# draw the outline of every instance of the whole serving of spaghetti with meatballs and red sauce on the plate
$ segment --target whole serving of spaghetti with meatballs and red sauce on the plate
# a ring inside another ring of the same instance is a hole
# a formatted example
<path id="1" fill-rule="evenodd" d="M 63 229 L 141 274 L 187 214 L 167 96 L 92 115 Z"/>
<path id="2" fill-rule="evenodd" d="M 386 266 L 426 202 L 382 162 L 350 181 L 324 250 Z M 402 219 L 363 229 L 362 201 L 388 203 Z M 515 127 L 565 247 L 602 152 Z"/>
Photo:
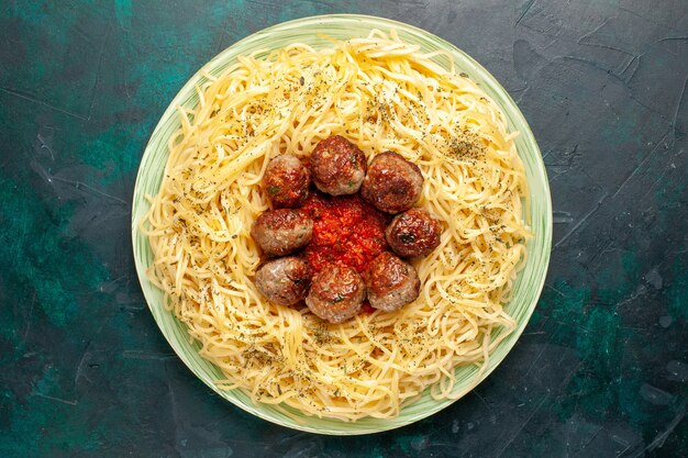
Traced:
<path id="1" fill-rule="evenodd" d="M 217 387 L 342 421 L 463 395 L 457 368 L 477 383 L 515 329 L 530 236 L 499 107 L 393 31 L 222 71 L 179 107 L 143 222 L 151 281 Z"/>

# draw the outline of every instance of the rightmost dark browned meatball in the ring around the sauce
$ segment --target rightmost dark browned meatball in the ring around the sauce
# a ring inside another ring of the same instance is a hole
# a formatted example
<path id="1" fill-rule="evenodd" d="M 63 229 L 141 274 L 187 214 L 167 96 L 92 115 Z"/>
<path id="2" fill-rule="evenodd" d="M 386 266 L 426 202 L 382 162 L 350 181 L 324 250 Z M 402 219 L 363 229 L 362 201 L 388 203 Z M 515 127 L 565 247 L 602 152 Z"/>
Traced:
<path id="1" fill-rule="evenodd" d="M 385 238 L 399 256 L 428 256 L 440 245 L 441 233 L 440 223 L 426 211 L 411 209 L 393 217 Z"/>

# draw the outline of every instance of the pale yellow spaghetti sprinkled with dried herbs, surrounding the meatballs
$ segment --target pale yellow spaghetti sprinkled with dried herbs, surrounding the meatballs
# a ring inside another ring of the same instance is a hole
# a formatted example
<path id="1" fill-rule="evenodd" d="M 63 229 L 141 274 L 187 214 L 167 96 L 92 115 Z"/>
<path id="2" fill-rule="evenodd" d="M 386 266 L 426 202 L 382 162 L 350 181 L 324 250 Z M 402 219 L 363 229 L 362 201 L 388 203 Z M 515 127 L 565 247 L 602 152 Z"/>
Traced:
<path id="1" fill-rule="evenodd" d="M 207 75 L 195 109 L 179 108 L 159 193 L 142 222 L 151 280 L 165 305 L 256 402 L 355 421 L 392 417 L 430 388 L 451 398 L 454 370 L 487 367 L 515 328 L 503 310 L 525 261 L 523 164 L 500 109 L 469 78 L 393 31 L 314 49 L 292 44 Z M 392 150 L 425 178 L 418 206 L 441 221 L 441 245 L 413 260 L 421 294 L 392 313 L 329 324 L 266 301 L 249 235 L 268 210 L 270 158 L 304 157 L 339 134 Z M 495 338 L 495 331 L 501 329 Z M 459 393 L 460 394 L 460 393 Z"/>

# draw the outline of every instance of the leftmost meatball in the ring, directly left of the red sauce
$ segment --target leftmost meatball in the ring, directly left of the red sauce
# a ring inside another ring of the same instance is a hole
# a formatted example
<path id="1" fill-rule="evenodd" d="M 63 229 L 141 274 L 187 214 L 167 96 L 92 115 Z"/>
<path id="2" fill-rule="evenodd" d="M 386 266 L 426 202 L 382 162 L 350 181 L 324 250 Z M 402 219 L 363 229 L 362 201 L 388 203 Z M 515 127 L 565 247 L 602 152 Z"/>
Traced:
<path id="1" fill-rule="evenodd" d="M 271 210 L 253 223 L 251 236 L 267 256 L 284 256 L 308 244 L 313 235 L 313 220 L 291 209 Z"/>

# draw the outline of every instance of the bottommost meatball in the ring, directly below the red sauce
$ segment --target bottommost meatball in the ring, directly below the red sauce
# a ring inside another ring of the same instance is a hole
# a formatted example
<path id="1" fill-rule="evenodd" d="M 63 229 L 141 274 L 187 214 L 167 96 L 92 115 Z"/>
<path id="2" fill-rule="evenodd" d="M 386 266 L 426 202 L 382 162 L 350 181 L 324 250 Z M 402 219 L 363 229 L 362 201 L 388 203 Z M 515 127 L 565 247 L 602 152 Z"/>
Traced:
<path id="1" fill-rule="evenodd" d="M 330 323 L 341 323 L 356 315 L 366 297 L 363 279 L 351 267 L 330 264 L 313 276 L 306 304 Z"/>

